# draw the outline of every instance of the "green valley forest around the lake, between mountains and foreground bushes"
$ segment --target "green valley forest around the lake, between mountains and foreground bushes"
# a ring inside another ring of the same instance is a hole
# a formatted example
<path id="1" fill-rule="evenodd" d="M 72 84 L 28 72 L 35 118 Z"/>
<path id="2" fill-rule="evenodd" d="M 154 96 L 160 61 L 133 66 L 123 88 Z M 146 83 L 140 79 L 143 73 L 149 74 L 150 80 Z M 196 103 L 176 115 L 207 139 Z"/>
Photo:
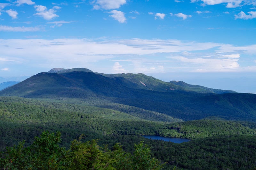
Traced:
<path id="1" fill-rule="evenodd" d="M 119 144 L 119 151 L 123 156 L 134 155 L 135 146 L 147 145 L 149 149 L 147 152 L 150 152 L 151 158 L 158 160 L 158 165 L 162 169 L 253 169 L 256 167 L 256 124 L 253 122 L 227 121 L 219 117 L 186 122 L 181 120 L 171 122 L 169 118 L 167 118 L 168 121 L 159 121 L 158 118 L 153 121 L 150 120 L 152 118 L 147 120 L 142 119 L 141 116 L 136 117 L 133 113 L 129 115 L 117 110 L 88 106 L 80 102 L 80 104 L 68 104 L 54 102 L 54 100 L 1 97 L 0 146 L 3 160 L 1 162 L 4 163 L 1 167 L 19 166 L 19 162 L 8 164 L 8 161 L 10 163 L 10 160 L 14 158 L 25 161 L 16 158 L 17 155 L 23 155 L 23 158 L 27 158 L 24 155 L 28 152 L 33 152 L 34 156 L 40 155 L 33 149 L 39 147 L 35 146 L 36 140 L 40 139 L 42 134 L 44 137 L 51 137 L 52 133 L 55 136 L 58 134 L 58 138 L 61 139 L 55 141 L 56 147 L 58 145 L 61 152 L 71 153 L 74 141 L 76 145 L 94 142 L 94 146 L 99 149 L 98 154 L 106 156 L 103 162 L 99 163 L 100 167 L 106 166 L 110 159 L 116 159 L 113 158 L 113 154 L 117 152 L 113 149 L 117 146 L 116 144 Z M 146 112 L 143 109 L 140 112 L 139 110 L 136 110 L 138 115 Z M 185 137 L 192 141 L 175 144 L 150 140 L 141 136 L 149 134 Z M 51 152 L 51 154 L 57 154 L 52 155 L 54 158 L 59 157 L 54 165 L 56 169 L 63 166 L 64 159 L 71 159 L 59 155 L 60 153 Z M 26 160 L 26 165 L 31 168 L 39 166 L 31 162 L 32 157 Z M 50 159 L 49 155 L 44 160 L 48 159 Z M 125 161 L 135 165 L 130 159 Z M 42 162 L 43 164 L 46 162 Z M 109 168 L 114 167 L 112 164 L 108 165 Z M 45 167 L 47 169 L 48 165 Z M 88 167 L 92 169 L 91 165 Z M 27 168 L 24 167 L 24 169 Z M 116 164 L 114 168 L 122 169 Z"/>

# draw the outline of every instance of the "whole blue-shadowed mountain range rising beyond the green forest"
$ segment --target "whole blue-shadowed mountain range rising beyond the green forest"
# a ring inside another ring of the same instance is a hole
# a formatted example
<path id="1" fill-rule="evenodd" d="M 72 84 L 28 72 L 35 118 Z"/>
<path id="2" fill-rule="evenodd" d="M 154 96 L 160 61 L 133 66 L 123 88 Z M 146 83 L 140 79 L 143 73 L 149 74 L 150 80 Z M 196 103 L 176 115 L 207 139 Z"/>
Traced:
<path id="1" fill-rule="evenodd" d="M 226 120 L 256 120 L 256 94 L 211 89 L 179 81 L 164 82 L 142 73 L 103 74 L 84 68 L 54 68 L 8 87 L 0 91 L 0 95 L 79 99 L 97 107 L 123 109 L 124 112 L 124 106 L 136 107 L 181 120 L 209 116 Z"/>

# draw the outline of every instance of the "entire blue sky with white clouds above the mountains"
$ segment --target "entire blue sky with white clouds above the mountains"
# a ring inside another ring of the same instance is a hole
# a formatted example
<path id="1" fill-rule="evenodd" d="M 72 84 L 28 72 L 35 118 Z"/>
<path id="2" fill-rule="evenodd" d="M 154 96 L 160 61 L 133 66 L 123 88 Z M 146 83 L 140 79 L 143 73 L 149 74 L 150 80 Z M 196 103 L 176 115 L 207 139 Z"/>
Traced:
<path id="1" fill-rule="evenodd" d="M 144 73 L 256 93 L 256 0 L 1 0 L 0 77 Z"/>

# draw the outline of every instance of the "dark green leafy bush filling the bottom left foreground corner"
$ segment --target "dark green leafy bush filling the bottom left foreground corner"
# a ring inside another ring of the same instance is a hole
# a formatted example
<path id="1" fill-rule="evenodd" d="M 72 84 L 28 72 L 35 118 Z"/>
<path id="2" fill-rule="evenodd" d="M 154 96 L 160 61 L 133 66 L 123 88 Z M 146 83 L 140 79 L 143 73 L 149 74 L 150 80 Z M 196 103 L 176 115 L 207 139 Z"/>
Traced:
<path id="1" fill-rule="evenodd" d="M 44 131 L 41 137 L 35 137 L 30 146 L 24 148 L 24 142 L 8 147 L 1 159 L 3 169 L 61 169 L 60 160 L 66 155 L 60 148 L 60 132 Z"/>

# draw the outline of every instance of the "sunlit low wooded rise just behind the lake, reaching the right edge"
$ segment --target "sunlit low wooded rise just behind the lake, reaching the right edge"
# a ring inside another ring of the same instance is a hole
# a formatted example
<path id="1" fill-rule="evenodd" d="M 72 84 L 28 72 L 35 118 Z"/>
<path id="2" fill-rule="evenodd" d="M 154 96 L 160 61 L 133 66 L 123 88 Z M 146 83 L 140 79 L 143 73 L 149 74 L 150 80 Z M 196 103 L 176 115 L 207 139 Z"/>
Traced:
<path id="1" fill-rule="evenodd" d="M 254 125 L 254 127 L 253 127 Z M 223 135 L 256 135 L 255 124 L 223 120 L 195 120 L 163 125 L 157 132 L 165 137 L 197 139 Z"/>

